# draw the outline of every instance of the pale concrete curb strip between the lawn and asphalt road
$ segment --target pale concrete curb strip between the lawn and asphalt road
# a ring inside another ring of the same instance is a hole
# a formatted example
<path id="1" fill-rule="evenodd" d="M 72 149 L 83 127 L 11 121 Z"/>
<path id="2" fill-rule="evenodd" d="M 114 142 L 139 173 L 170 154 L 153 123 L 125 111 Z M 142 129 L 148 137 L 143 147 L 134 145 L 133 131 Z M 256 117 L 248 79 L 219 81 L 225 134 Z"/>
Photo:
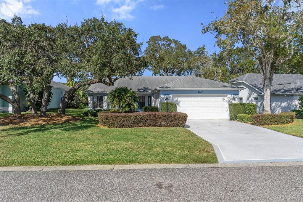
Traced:
<path id="1" fill-rule="evenodd" d="M 173 168 L 226 168 L 226 167 L 272 167 L 303 166 L 298 162 L 274 163 L 205 163 L 205 164 L 131 164 L 131 165 L 87 165 L 87 166 L 20 166 L 0 167 L 0 172 L 12 171 L 75 171 L 75 170 L 136 170 L 136 169 L 173 169 Z"/>

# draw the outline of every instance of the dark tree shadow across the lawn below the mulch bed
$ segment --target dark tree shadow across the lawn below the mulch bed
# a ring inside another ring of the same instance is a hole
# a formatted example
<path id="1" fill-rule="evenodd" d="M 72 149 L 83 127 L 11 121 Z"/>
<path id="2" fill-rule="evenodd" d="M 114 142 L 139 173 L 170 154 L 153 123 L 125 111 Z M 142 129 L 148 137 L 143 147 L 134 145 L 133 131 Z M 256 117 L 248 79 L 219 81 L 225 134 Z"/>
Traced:
<path id="1" fill-rule="evenodd" d="M 23 136 L 23 135 L 28 135 L 29 133 L 44 133 L 44 132 L 49 132 L 51 130 L 57 130 L 57 131 L 59 130 L 64 132 L 79 131 L 79 130 L 85 130 L 92 127 L 96 127 L 97 124 L 98 124 L 97 118 L 82 117 L 82 120 L 70 122 L 70 123 L 41 125 L 41 126 L 12 126 L 12 127 L 5 127 L 3 129 L 0 129 L 0 134 L 5 134 L 5 135 L 0 135 L 0 137 Z"/>

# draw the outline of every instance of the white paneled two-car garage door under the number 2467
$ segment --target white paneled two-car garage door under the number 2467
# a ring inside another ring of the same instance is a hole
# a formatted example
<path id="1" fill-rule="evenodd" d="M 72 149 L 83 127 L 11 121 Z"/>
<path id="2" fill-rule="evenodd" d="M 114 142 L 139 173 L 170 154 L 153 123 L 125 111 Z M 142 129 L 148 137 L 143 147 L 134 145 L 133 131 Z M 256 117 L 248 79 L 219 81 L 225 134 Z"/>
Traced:
<path id="1" fill-rule="evenodd" d="M 172 95 L 177 111 L 188 119 L 227 119 L 227 95 Z"/>

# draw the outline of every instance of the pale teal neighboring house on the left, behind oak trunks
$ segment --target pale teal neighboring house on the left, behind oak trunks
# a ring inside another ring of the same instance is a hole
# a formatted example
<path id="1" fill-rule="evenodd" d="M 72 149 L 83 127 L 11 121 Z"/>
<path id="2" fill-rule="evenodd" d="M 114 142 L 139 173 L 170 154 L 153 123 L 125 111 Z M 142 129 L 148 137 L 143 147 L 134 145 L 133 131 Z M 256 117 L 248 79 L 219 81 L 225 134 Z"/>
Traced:
<path id="1" fill-rule="evenodd" d="M 70 87 L 55 81 L 51 82 L 51 86 L 52 86 L 52 99 L 48 104 L 48 108 L 58 108 L 65 94 L 65 91 L 68 91 Z M 17 87 L 17 89 L 20 97 L 21 111 L 27 111 L 28 100 L 25 95 L 25 92 L 19 87 Z M 7 85 L 0 85 L 0 93 L 13 99 L 12 91 L 9 89 Z M 13 112 L 12 105 L 0 99 L 0 113 L 12 113 L 12 112 Z"/>

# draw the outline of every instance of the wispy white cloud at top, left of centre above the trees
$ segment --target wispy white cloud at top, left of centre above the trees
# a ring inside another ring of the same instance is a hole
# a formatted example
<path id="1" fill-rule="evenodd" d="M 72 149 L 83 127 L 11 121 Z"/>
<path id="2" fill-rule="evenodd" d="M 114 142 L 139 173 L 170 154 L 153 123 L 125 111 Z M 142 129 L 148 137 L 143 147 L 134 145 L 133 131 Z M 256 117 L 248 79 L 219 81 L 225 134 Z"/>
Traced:
<path id="1" fill-rule="evenodd" d="M 135 18 L 132 11 L 140 0 L 97 0 L 96 4 L 102 6 L 103 10 L 111 12 L 112 19 L 132 20 Z"/>

